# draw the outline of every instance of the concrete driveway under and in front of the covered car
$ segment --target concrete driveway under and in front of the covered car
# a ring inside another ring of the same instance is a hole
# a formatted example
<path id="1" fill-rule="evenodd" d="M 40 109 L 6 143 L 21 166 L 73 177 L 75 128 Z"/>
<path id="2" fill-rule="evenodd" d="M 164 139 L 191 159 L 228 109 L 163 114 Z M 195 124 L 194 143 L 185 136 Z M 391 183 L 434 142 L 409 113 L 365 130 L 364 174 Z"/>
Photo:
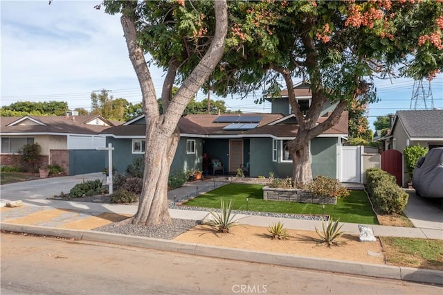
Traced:
<path id="1" fill-rule="evenodd" d="M 443 230 L 443 211 L 438 208 L 435 199 L 426 199 L 415 194 L 415 190 L 406 190 L 409 195 L 408 205 L 403 211 L 415 227 L 422 229 Z"/>

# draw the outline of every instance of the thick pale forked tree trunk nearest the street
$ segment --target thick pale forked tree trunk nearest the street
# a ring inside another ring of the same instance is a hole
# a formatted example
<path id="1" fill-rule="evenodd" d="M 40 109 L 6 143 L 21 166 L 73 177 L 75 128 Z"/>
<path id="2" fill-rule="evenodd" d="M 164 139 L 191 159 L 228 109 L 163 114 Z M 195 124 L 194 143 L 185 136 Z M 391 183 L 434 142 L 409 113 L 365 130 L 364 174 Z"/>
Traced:
<path id="1" fill-rule="evenodd" d="M 143 111 L 146 120 L 145 171 L 143 190 L 138 204 L 138 211 L 132 218 L 133 224 L 163 224 L 170 222 L 168 211 L 168 177 L 170 166 L 179 143 L 177 123 L 192 96 L 208 79 L 210 73 L 221 59 L 224 52 L 224 40 L 228 26 L 226 0 L 215 1 L 215 36 L 210 48 L 199 64 L 171 99 L 170 91 L 177 66 L 174 62 L 168 70 L 163 84 L 164 114 L 159 114 L 159 106 L 152 77 L 147 67 L 142 48 L 136 42 L 136 1 L 125 3 L 125 13 L 121 17 L 123 32 L 127 42 L 129 58 L 136 71 L 143 96 Z M 168 93 L 165 93 L 168 91 Z"/>

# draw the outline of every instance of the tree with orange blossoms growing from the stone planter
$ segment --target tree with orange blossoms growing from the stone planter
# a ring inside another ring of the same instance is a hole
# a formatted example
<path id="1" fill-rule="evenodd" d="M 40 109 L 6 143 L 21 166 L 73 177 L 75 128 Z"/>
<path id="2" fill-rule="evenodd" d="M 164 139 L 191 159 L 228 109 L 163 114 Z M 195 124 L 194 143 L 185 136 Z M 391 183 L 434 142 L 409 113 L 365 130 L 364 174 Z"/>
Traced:
<path id="1" fill-rule="evenodd" d="M 226 53 L 211 84 L 222 95 L 288 89 L 299 125 L 289 144 L 293 179 L 307 183 L 309 141 L 338 123 L 346 107 L 377 100 L 374 77 L 432 79 L 442 70 L 442 10 L 441 0 L 229 1 Z M 310 84 L 306 114 L 294 78 Z M 335 109 L 318 124 L 326 103 Z"/>

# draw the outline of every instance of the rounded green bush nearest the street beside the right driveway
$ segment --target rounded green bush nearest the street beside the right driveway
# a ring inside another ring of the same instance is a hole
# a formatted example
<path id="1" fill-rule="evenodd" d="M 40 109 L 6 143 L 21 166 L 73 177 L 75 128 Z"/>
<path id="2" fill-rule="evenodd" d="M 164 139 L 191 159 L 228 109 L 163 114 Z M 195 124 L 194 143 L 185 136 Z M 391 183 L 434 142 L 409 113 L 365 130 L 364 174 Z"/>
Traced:
<path id="1" fill-rule="evenodd" d="M 401 213 L 408 204 L 408 193 L 391 181 L 382 181 L 374 188 L 375 204 L 383 213 Z"/>

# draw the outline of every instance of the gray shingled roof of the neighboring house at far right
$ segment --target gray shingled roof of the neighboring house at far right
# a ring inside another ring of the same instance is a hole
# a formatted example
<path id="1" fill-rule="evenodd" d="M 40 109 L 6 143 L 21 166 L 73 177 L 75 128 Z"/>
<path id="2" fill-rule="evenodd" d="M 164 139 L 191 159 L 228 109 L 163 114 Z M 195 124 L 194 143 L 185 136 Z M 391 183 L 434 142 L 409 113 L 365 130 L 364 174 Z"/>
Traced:
<path id="1" fill-rule="evenodd" d="M 443 109 L 397 111 L 391 134 L 399 122 L 409 138 L 443 138 Z"/>

